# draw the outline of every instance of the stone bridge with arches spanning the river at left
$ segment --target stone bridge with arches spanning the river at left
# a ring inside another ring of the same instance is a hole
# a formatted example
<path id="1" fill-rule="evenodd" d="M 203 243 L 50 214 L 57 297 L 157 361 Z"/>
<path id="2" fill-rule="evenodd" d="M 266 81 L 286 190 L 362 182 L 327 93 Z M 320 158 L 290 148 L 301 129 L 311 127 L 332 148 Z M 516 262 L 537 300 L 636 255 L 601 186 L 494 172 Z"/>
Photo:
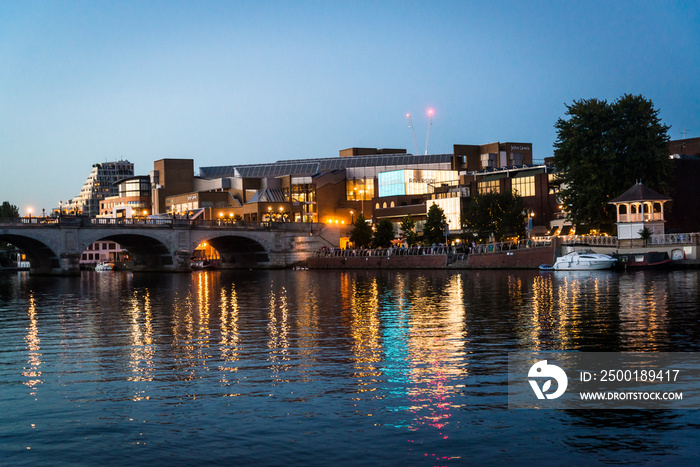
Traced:
<path id="1" fill-rule="evenodd" d="M 80 274 L 80 255 L 100 240 L 128 250 L 134 271 L 180 272 L 190 271 L 190 257 L 203 242 L 219 252 L 222 269 L 288 267 L 333 246 L 324 230 L 287 222 L 25 217 L 0 220 L 0 241 L 22 250 L 37 274 Z"/>

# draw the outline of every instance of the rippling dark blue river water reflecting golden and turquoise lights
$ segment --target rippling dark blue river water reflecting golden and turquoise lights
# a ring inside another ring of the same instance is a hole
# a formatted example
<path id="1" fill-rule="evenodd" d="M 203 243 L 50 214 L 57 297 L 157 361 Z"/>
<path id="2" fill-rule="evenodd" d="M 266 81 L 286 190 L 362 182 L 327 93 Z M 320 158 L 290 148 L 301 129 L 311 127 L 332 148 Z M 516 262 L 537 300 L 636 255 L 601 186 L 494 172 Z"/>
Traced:
<path id="1" fill-rule="evenodd" d="M 507 357 L 697 351 L 698 281 L 0 275 L 0 451 L 13 464 L 683 463 L 696 412 L 509 411 Z"/>

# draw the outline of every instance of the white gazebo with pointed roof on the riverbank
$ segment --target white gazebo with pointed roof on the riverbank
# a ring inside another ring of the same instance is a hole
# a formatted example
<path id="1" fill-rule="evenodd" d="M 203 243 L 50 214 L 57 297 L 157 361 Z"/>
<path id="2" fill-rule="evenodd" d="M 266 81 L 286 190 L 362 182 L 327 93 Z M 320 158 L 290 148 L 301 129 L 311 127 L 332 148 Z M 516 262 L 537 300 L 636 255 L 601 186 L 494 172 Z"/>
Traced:
<path id="1" fill-rule="evenodd" d="M 608 201 L 614 204 L 617 211 L 618 240 L 634 240 L 640 238 L 639 232 L 645 227 L 652 235 L 663 235 L 664 203 L 671 198 L 637 183 L 617 198 Z"/>

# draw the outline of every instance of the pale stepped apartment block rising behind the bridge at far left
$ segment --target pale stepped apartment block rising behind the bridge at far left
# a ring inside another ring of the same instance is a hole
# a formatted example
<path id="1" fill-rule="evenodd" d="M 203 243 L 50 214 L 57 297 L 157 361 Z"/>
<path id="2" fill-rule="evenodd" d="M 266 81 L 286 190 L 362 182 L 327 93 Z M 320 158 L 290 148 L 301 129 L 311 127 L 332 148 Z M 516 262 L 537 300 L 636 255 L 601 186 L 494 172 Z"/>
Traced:
<path id="1" fill-rule="evenodd" d="M 100 202 L 118 194 L 117 182 L 133 175 L 134 164 L 126 160 L 93 164 L 80 195 L 62 205 L 63 213 L 97 217 Z"/>

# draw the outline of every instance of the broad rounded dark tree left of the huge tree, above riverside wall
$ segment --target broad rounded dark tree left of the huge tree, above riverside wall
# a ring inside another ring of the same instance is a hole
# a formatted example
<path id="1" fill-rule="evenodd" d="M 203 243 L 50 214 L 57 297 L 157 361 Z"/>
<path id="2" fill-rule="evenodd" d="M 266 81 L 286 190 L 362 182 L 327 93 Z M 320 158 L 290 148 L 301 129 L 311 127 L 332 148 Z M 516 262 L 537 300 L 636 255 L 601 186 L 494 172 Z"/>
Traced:
<path id="1" fill-rule="evenodd" d="M 491 235 L 497 241 L 505 237 L 525 236 L 525 213 L 522 198 L 506 191 L 484 193 L 472 197 L 462 224 L 483 240 Z"/>

